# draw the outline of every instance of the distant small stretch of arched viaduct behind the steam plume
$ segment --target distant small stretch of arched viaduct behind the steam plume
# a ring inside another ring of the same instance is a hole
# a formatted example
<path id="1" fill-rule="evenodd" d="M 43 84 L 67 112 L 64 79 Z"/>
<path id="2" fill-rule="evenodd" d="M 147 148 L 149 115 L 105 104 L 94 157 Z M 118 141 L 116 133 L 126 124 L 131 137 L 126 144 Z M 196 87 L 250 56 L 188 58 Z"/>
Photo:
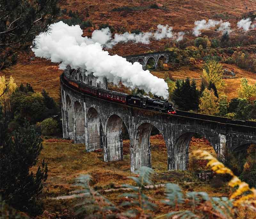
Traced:
<path id="1" fill-rule="evenodd" d="M 139 62 L 143 69 L 146 68 L 146 65 L 148 63 L 148 60 L 152 60 L 154 62 L 154 68 L 157 68 L 157 63 L 160 58 L 164 58 L 164 62 L 168 63 L 170 56 L 172 55 L 172 52 L 169 51 L 162 51 L 162 52 L 151 52 L 151 53 L 144 53 L 139 55 L 130 55 L 130 56 L 123 56 L 127 59 L 128 62 L 134 63 Z"/>

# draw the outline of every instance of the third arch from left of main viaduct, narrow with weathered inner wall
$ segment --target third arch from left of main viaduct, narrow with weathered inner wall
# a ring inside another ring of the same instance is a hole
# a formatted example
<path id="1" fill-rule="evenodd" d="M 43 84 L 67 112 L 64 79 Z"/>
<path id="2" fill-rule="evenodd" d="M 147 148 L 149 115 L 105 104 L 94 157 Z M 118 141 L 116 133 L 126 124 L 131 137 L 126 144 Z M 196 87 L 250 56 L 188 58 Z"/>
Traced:
<path id="1" fill-rule="evenodd" d="M 102 122 L 98 111 L 91 107 L 87 112 L 88 151 L 102 148 Z"/>

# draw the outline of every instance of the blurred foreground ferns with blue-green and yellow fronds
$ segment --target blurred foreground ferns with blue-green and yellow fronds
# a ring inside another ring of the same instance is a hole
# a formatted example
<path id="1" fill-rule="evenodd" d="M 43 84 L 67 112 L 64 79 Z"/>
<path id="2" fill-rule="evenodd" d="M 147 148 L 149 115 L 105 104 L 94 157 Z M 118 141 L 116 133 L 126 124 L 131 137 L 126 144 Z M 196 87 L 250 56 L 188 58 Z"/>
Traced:
<path id="1" fill-rule="evenodd" d="M 161 200 L 165 204 L 164 215 L 158 215 L 156 218 L 237 218 L 238 209 L 240 206 L 248 207 L 254 210 L 256 194 L 253 188 L 242 182 L 229 169 L 214 158 L 206 151 L 196 151 L 194 156 L 199 159 L 208 160 L 207 166 L 214 170 L 217 174 L 229 175 L 230 187 L 238 186 L 236 192 L 227 197 L 210 197 L 206 192 L 184 192 L 177 184 L 168 183 L 165 185 L 166 197 Z M 80 186 L 83 190 L 81 193 L 86 193 L 86 201 L 81 203 L 81 211 L 93 218 L 102 218 L 108 215 L 108 218 L 152 218 L 151 212 L 159 210 L 156 201 L 153 197 L 149 197 L 145 190 L 146 185 L 152 184 L 152 176 L 154 171 L 148 167 L 141 167 L 135 172 L 136 176 L 130 176 L 135 185 L 125 184 L 131 193 L 122 193 L 121 205 L 111 203 L 103 197 L 99 192 L 96 192 L 90 186 L 91 177 L 81 175 L 77 181 L 81 182 Z M 188 186 L 184 186 L 188 187 Z M 244 192 L 246 192 L 244 194 Z M 242 194 L 243 197 L 242 197 Z M 240 198 L 241 195 L 241 198 Z M 96 197 L 96 198 L 95 198 Z M 119 203 L 121 203 L 119 202 Z M 161 205 L 161 207 L 163 207 Z M 184 210 L 185 209 L 185 210 Z M 89 210 L 89 211 L 88 211 Z"/>

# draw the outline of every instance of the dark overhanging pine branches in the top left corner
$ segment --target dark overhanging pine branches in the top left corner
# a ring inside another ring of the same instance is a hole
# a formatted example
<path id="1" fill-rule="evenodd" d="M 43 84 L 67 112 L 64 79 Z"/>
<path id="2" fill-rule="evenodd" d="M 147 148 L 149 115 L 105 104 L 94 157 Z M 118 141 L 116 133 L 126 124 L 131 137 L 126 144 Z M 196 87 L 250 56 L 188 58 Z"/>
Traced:
<path id="1" fill-rule="evenodd" d="M 36 35 L 48 31 L 58 13 L 57 0 L 1 0 L 0 69 L 15 64 L 17 51 L 30 49 Z"/>

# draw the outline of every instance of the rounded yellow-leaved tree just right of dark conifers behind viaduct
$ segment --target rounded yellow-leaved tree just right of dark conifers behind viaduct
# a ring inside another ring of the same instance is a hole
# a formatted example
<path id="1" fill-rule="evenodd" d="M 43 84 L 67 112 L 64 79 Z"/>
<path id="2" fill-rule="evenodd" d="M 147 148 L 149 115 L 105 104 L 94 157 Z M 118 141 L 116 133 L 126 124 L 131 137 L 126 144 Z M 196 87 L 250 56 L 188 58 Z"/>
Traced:
<path id="1" fill-rule="evenodd" d="M 207 115 L 217 115 L 219 110 L 218 98 L 213 90 L 204 89 L 203 96 L 200 98 L 199 111 Z"/>

